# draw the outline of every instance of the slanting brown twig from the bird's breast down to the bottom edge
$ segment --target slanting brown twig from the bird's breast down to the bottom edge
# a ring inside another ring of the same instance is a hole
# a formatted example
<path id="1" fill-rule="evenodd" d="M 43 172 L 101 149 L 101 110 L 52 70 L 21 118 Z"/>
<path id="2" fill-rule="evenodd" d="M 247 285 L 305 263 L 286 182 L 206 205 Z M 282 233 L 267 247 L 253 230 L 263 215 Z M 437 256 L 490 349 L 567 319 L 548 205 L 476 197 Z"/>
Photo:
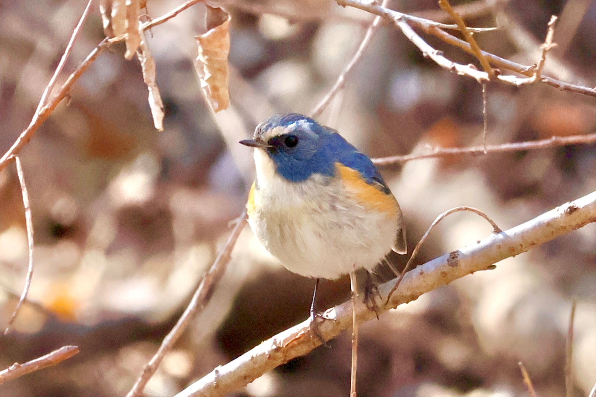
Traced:
<path id="1" fill-rule="evenodd" d="M 173 348 L 173 345 L 176 343 L 182 333 L 184 333 L 184 330 L 188 327 L 188 324 L 190 324 L 193 318 L 195 318 L 197 314 L 203 310 L 203 308 L 207 305 L 207 302 L 209 302 L 211 299 L 213 290 L 215 289 L 219 279 L 224 274 L 226 265 L 231 259 L 232 249 L 234 248 L 236 240 L 238 240 L 240 232 L 244 228 L 245 219 L 246 210 L 244 210 L 238 218 L 238 222 L 234 226 L 234 229 L 232 229 L 228 240 L 225 242 L 221 250 L 219 250 L 217 258 L 215 258 L 215 261 L 213 261 L 213 264 L 209 270 L 207 270 L 203 280 L 201 280 L 197 290 L 195 290 L 193 298 L 191 299 L 190 303 L 188 303 L 187 308 L 184 310 L 184 313 L 182 313 L 181 317 L 178 319 L 178 322 L 176 322 L 176 325 L 172 327 L 172 330 L 170 330 L 166 337 L 164 337 L 159 349 L 157 349 L 157 352 L 153 355 L 147 365 L 145 365 L 141 376 L 138 377 L 134 386 L 132 386 L 131 391 L 126 395 L 127 397 L 141 395 L 145 385 L 157 371 L 157 367 L 159 367 L 163 357 L 168 351 L 170 351 L 170 349 Z"/>

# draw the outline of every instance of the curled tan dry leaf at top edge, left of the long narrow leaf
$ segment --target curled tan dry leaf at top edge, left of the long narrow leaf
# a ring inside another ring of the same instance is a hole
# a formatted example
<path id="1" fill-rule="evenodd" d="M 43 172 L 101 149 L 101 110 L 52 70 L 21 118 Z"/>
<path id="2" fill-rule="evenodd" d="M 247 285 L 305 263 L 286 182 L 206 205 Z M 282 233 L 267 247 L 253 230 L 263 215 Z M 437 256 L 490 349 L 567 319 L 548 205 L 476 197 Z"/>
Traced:
<path id="1" fill-rule="evenodd" d="M 139 34 L 139 14 L 146 1 L 142 0 L 101 0 L 100 13 L 107 37 L 126 34 L 126 53 L 128 60 L 135 54 L 141 44 Z"/>

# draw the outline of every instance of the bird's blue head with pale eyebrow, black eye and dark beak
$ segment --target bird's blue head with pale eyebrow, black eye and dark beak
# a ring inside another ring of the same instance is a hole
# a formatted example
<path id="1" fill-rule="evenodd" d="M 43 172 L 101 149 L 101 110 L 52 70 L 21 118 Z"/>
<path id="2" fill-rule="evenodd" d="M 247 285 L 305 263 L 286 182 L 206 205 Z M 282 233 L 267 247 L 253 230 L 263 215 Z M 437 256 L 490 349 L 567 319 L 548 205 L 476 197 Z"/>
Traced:
<path id="1" fill-rule="evenodd" d="M 257 148 L 257 173 L 259 152 L 264 152 L 274 172 L 291 182 L 304 181 L 313 173 L 334 175 L 336 162 L 356 154 L 364 156 L 333 129 L 296 113 L 269 117 L 257 126 L 253 139 L 240 143 Z"/>

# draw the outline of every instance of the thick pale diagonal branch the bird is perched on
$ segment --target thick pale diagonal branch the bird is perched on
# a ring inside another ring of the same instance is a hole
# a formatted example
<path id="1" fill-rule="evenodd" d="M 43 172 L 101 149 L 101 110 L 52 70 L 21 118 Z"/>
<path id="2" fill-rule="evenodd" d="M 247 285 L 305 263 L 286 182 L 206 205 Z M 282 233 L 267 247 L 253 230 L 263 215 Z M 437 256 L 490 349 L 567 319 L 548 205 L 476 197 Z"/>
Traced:
<path id="1" fill-rule="evenodd" d="M 390 305 L 379 308 L 379 312 L 411 302 L 421 294 L 449 284 L 464 275 L 492 268 L 493 263 L 499 260 L 519 255 L 590 222 L 596 222 L 596 192 L 556 207 L 522 225 L 499 234 L 491 234 L 479 243 L 418 266 L 403 277 L 401 287 L 398 293 L 393 294 Z M 380 286 L 380 292 L 388 293 L 393 283 L 389 281 Z M 375 313 L 371 312 L 364 302 L 358 303 L 356 311 L 359 321 L 375 318 Z M 328 309 L 324 315 L 334 321 L 319 323 L 318 331 L 325 340 L 329 340 L 352 326 L 351 300 Z M 303 321 L 266 340 L 234 361 L 215 368 L 176 397 L 226 395 L 278 365 L 310 352 L 320 344 L 318 338 L 311 337 L 309 321 Z"/>

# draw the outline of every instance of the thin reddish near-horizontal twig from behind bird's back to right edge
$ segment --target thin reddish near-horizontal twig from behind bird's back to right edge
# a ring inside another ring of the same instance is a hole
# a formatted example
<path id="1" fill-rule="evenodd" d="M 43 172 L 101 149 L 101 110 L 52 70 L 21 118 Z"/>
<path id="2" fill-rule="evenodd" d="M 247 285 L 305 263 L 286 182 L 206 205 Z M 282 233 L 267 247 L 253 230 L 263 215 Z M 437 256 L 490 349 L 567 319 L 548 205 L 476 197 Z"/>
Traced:
<path id="1" fill-rule="evenodd" d="M 459 156 L 460 154 L 489 154 L 505 153 L 508 151 L 536 150 L 564 145 L 583 145 L 596 142 L 596 133 L 585 135 L 569 135 L 569 137 L 551 137 L 539 141 L 513 142 L 498 145 L 472 147 L 444 147 L 436 148 L 430 153 L 411 153 L 401 156 L 378 157 L 372 159 L 377 166 L 405 163 L 411 160 L 436 159 L 437 157 Z"/>

